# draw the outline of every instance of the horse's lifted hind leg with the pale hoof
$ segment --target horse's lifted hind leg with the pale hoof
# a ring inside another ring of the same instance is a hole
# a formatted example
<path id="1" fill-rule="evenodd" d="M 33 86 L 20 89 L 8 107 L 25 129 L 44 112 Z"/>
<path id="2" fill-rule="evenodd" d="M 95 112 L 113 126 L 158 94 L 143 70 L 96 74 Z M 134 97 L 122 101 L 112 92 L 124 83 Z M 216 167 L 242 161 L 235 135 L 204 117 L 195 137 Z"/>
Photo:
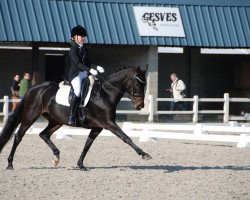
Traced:
<path id="1" fill-rule="evenodd" d="M 39 134 L 39 136 L 46 142 L 46 144 L 51 148 L 54 153 L 52 157 L 52 163 L 56 166 L 60 160 L 60 151 L 51 141 L 51 135 L 58 130 L 62 125 L 56 122 L 49 121 L 48 126 Z"/>

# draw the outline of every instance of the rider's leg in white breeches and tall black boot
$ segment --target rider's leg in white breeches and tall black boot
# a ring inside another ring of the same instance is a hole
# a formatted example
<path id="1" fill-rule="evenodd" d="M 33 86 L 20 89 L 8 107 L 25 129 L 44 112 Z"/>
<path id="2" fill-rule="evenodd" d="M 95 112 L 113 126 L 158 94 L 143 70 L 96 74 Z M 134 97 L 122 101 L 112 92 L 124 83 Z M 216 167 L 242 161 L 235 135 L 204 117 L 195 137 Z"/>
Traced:
<path id="1" fill-rule="evenodd" d="M 74 94 L 70 102 L 70 116 L 69 116 L 69 121 L 68 121 L 69 125 L 73 125 L 76 123 L 75 114 L 76 114 L 76 110 L 78 108 L 79 101 L 80 101 L 81 83 L 86 77 L 87 77 L 86 72 L 80 72 L 79 75 L 71 81 Z"/>

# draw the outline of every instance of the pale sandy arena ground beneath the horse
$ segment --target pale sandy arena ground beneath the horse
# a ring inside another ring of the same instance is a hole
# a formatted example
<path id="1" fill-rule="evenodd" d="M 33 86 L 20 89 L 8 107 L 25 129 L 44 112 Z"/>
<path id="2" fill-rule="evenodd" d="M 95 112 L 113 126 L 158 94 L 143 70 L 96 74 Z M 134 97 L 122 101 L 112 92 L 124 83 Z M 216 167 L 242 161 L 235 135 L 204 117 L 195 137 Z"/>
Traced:
<path id="1" fill-rule="evenodd" d="M 142 160 L 116 137 L 98 137 L 87 172 L 75 169 L 86 136 L 53 139 L 61 151 L 54 167 L 49 147 L 38 135 L 25 135 L 14 171 L 5 169 L 11 141 L 0 154 L 0 199 L 250 199 L 250 148 L 133 140 L 153 159 Z"/>

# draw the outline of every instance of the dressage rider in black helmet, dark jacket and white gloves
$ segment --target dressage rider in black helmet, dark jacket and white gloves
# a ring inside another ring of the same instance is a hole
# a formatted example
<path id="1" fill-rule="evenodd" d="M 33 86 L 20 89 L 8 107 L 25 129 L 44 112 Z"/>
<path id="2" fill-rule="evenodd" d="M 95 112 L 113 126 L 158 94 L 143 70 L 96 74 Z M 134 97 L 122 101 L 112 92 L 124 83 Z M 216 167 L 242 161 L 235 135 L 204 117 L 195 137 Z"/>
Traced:
<path id="1" fill-rule="evenodd" d="M 97 66 L 97 70 L 91 68 L 88 51 L 84 45 L 87 32 L 84 27 L 77 25 L 71 30 L 71 48 L 70 61 L 71 66 L 68 74 L 68 79 L 73 87 L 74 94 L 70 102 L 70 116 L 68 123 L 75 124 L 75 113 L 80 101 L 81 84 L 86 80 L 88 74 L 96 76 L 98 71 L 104 72 L 101 66 Z M 83 92 L 84 93 L 84 92 Z"/>

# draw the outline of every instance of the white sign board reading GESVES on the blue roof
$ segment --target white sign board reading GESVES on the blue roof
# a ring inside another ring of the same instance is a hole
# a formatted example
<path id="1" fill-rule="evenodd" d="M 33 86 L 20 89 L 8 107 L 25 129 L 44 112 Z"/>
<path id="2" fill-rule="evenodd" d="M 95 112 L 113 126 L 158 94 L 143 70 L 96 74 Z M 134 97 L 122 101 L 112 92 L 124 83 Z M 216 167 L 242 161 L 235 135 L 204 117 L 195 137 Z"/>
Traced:
<path id="1" fill-rule="evenodd" d="M 185 37 L 179 8 L 133 8 L 141 36 Z"/>

